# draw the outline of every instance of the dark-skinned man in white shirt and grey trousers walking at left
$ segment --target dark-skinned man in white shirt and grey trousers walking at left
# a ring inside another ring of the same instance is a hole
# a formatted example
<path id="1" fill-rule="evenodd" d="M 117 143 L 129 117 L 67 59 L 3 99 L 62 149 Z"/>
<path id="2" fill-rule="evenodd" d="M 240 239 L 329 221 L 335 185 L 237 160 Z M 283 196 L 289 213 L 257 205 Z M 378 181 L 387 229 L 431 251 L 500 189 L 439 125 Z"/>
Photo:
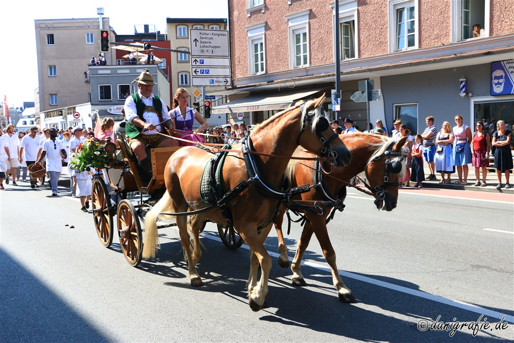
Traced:
<path id="1" fill-rule="evenodd" d="M 63 169 L 62 163 L 66 156 L 66 150 L 64 150 L 63 143 L 57 139 L 57 130 L 51 128 L 50 139 L 45 140 L 43 144 L 43 152 L 36 164 L 41 164 L 41 161 L 46 157 L 46 172 L 50 175 L 52 196 L 57 196 L 57 184 Z"/>

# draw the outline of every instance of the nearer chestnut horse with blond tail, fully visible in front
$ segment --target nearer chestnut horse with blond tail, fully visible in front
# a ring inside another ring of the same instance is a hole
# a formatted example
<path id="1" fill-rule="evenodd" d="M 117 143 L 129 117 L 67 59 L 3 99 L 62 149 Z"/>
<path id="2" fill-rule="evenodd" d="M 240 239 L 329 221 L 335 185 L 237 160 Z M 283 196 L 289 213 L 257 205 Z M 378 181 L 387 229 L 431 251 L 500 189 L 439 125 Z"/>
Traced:
<path id="1" fill-rule="evenodd" d="M 206 220 L 222 225 L 230 222 L 251 249 L 248 302 L 253 311 L 259 311 L 268 292 L 271 269 L 271 258 L 264 248 L 264 240 L 272 227 L 279 202 L 284 199 L 281 185 L 292 153 L 301 145 L 315 154 L 331 155 L 336 166 L 343 167 L 350 163 L 350 152 L 341 139 L 334 135 L 328 124 L 328 116 L 322 110 L 324 99 L 323 95 L 277 113 L 256 125 L 242 142 L 232 147 L 233 152 L 226 155 L 218 185 L 224 196 L 229 190 L 238 189 L 238 193 L 226 201 L 224 207 L 207 206 L 200 194 L 200 180 L 204 168 L 213 157 L 212 152 L 197 147 L 181 148 L 175 152 L 164 170 L 167 191 L 145 216 L 143 257 L 155 256 L 159 213 L 195 213 L 190 218 L 189 226 L 186 216 L 176 215 L 175 220 L 188 263 L 191 285 L 200 286 L 203 282 L 195 267 L 201 257 L 200 226 Z M 249 151 L 254 153 L 250 154 Z M 252 176 L 249 178 L 250 169 Z M 205 212 L 199 213 L 202 210 Z M 193 253 L 189 232 L 194 240 Z M 258 283 L 259 265 L 261 278 Z"/>

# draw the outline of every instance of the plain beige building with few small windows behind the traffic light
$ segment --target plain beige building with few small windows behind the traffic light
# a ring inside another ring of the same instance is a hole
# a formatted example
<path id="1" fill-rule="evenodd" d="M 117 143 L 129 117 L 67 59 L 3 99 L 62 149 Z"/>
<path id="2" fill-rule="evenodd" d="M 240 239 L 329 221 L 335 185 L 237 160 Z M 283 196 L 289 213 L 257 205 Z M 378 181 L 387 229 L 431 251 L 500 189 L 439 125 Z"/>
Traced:
<path id="1" fill-rule="evenodd" d="M 109 29 L 109 18 L 102 20 Z M 87 70 L 91 57 L 100 53 L 100 20 L 35 20 L 38 55 L 39 112 L 82 104 L 89 101 Z M 107 64 L 112 53 L 103 54 Z"/>

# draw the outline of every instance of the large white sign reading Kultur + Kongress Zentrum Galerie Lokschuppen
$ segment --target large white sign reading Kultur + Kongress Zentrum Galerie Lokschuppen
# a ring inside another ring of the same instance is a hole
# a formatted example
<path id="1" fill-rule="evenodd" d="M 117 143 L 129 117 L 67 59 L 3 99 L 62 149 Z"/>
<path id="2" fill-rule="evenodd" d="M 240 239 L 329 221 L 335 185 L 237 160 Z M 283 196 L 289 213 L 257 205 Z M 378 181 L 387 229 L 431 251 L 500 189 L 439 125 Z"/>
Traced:
<path id="1" fill-rule="evenodd" d="M 191 58 L 230 57 L 227 30 L 190 29 Z"/>

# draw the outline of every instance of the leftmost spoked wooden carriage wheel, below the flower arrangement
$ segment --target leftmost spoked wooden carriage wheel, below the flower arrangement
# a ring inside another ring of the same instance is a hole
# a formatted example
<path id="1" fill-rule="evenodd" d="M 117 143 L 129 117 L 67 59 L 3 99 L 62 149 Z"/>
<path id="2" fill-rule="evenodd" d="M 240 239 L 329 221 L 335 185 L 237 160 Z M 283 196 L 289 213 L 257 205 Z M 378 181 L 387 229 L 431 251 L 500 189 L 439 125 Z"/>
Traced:
<path id="1" fill-rule="evenodd" d="M 113 217 L 109 211 L 111 200 L 108 197 L 107 187 L 101 177 L 93 179 L 93 189 L 91 189 L 91 207 L 93 208 L 93 220 L 95 227 L 105 247 L 113 243 Z"/>

